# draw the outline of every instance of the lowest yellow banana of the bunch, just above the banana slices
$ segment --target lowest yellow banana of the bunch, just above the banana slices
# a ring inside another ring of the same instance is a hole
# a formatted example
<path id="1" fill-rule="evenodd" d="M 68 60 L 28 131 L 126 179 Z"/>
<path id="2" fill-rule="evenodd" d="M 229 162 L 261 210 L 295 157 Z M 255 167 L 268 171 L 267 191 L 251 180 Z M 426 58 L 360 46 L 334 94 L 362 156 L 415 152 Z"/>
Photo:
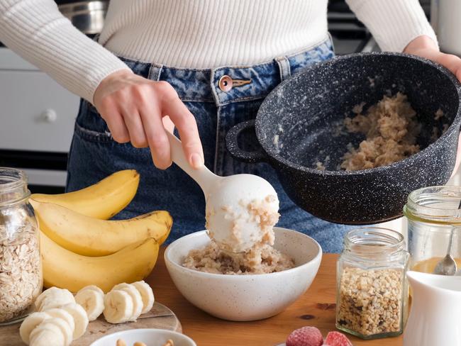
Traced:
<path id="1" fill-rule="evenodd" d="M 147 277 L 157 262 L 158 250 L 158 242 L 149 238 L 112 255 L 86 257 L 60 247 L 40 232 L 43 284 L 72 292 L 96 285 L 106 293 L 121 282 Z"/>

